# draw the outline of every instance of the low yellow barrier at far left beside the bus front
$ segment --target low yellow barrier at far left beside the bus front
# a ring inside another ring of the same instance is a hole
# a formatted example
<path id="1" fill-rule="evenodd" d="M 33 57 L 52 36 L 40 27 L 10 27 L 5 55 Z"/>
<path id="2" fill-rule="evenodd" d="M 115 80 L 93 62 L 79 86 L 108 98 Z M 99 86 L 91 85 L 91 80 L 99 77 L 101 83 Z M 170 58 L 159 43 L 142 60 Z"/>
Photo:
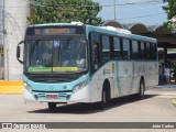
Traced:
<path id="1" fill-rule="evenodd" d="M 23 81 L 0 81 L 0 95 L 23 94 Z"/>

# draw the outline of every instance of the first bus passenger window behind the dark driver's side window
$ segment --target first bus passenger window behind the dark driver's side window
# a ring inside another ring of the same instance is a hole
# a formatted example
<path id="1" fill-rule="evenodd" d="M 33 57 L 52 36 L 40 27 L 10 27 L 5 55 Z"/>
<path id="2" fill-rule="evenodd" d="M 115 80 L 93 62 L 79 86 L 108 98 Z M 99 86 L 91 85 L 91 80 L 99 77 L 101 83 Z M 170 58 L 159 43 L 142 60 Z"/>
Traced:
<path id="1" fill-rule="evenodd" d="M 110 58 L 110 37 L 102 35 L 102 58 Z"/>

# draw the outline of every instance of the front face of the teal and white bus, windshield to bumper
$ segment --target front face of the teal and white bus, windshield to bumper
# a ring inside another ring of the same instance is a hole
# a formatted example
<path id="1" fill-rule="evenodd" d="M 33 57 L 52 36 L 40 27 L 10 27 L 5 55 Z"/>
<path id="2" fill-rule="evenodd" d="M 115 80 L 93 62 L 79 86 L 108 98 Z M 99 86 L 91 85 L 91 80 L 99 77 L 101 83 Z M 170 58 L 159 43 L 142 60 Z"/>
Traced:
<path id="1" fill-rule="evenodd" d="M 84 25 L 30 26 L 23 43 L 24 57 L 19 61 L 24 66 L 25 101 L 48 102 L 50 109 L 57 102 L 89 102 Z"/>

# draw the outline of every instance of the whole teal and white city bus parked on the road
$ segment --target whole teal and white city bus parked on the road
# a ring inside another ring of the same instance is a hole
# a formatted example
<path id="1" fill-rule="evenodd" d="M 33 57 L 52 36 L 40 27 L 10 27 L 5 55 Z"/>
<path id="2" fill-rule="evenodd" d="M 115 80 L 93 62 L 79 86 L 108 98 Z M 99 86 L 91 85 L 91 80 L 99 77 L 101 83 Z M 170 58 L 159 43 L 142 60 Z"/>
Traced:
<path id="1" fill-rule="evenodd" d="M 48 109 L 76 102 L 103 109 L 110 99 L 143 98 L 158 84 L 156 40 L 112 26 L 31 25 L 16 58 L 23 64 L 24 100 L 47 102 Z"/>

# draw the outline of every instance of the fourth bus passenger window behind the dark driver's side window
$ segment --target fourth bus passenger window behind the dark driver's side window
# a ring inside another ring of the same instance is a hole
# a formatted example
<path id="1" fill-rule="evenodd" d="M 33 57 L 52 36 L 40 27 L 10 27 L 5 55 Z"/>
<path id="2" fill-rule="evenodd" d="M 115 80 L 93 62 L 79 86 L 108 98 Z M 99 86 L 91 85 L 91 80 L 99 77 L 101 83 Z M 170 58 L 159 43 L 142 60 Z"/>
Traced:
<path id="1" fill-rule="evenodd" d="M 139 43 L 138 41 L 132 41 L 132 58 L 139 58 Z"/>

